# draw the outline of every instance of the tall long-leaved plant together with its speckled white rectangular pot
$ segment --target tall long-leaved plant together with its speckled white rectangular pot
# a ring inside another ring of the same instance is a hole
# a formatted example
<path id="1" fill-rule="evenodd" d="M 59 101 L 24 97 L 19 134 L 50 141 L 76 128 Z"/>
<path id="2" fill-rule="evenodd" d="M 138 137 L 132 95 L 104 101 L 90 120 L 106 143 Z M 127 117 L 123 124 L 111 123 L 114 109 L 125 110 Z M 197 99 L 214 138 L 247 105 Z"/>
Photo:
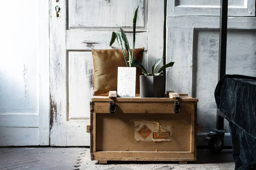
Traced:
<path id="1" fill-rule="evenodd" d="M 135 47 L 135 31 L 136 31 L 136 22 L 137 22 L 137 12 L 138 8 L 135 10 L 134 19 L 133 19 L 133 48 L 132 54 L 130 51 L 129 42 L 126 37 L 125 31 L 120 28 L 120 32 L 113 31 L 112 37 L 109 46 L 111 46 L 115 40 L 117 40 L 119 47 L 122 50 L 122 53 L 125 58 L 125 63 L 127 67 L 118 67 L 118 76 L 117 76 L 117 96 L 118 97 L 135 97 L 135 88 L 136 88 L 136 67 L 133 66 L 134 61 L 134 47 Z M 125 54 L 125 49 L 128 56 Z"/>

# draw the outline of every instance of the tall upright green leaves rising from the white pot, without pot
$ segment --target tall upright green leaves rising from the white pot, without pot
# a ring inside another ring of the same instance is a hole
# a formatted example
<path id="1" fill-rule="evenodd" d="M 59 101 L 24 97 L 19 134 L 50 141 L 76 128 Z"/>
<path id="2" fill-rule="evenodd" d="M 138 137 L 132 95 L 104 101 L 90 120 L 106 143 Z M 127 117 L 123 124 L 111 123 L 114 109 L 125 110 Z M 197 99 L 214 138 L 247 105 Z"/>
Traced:
<path id="1" fill-rule="evenodd" d="M 139 5 L 140 5 L 140 3 L 139 3 Z M 127 67 L 131 67 L 133 65 L 133 61 L 134 61 L 133 59 L 134 59 L 134 46 L 135 46 L 135 31 L 136 31 L 137 13 L 138 13 L 139 5 L 138 5 L 137 9 L 135 10 L 134 19 L 133 19 L 132 54 L 131 54 L 131 51 L 130 51 L 129 42 L 128 42 L 127 37 L 126 37 L 126 33 L 120 26 L 119 26 L 119 28 L 120 28 L 121 32 L 113 31 L 112 36 L 111 36 L 111 40 L 110 40 L 110 43 L 109 43 L 109 46 L 111 46 L 115 42 L 115 40 L 117 40 L 118 45 L 121 48 L 122 53 L 125 57 L 125 63 L 127 65 Z M 124 50 L 124 47 L 123 47 L 123 44 L 122 44 L 122 40 L 124 41 L 124 44 L 125 44 L 125 49 L 126 49 L 127 54 L 128 54 L 128 59 L 127 59 L 126 54 L 125 54 L 125 50 Z"/>

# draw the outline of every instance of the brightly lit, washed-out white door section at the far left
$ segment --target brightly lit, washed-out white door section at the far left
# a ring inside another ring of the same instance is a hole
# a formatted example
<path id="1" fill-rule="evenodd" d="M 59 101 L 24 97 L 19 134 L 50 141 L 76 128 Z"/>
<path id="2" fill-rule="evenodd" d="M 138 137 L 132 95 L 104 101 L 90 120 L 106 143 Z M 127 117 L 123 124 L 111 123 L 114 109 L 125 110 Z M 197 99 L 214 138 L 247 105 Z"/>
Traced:
<path id="1" fill-rule="evenodd" d="M 1 3 L 1 146 L 49 144 L 48 8 L 45 0 Z"/>

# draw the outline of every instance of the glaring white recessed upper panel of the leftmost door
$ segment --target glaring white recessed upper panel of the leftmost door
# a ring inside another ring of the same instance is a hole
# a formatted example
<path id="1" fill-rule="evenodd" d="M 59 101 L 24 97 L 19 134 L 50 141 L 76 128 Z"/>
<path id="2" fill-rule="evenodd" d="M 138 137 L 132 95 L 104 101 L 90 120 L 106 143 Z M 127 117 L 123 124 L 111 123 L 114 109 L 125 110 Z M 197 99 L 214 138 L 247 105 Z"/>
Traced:
<path id="1" fill-rule="evenodd" d="M 37 113 L 37 2 L 15 1 L 0 6 L 0 113 Z"/>

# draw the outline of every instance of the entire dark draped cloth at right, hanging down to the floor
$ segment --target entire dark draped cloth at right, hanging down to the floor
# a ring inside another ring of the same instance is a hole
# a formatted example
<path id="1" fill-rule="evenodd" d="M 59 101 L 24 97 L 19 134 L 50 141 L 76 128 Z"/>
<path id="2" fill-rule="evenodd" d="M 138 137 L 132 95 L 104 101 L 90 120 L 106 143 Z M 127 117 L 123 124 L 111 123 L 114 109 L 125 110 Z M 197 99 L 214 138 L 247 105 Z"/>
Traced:
<path id="1" fill-rule="evenodd" d="M 229 121 L 235 169 L 256 170 L 256 77 L 226 74 L 214 95 Z"/>

